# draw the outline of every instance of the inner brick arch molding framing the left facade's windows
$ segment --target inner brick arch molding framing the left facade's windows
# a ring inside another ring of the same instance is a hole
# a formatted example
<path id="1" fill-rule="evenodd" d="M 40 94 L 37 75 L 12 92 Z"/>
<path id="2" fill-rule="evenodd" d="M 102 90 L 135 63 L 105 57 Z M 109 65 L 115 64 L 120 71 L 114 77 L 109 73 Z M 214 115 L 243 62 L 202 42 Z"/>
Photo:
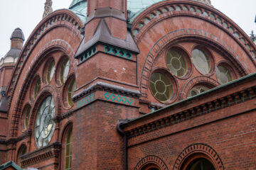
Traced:
<path id="1" fill-rule="evenodd" d="M 15 111 L 14 111 L 14 114 L 12 115 L 12 119 L 11 119 L 11 122 L 12 122 L 11 132 L 10 132 L 11 137 L 15 137 L 16 131 L 18 130 L 18 120 L 20 117 L 19 115 L 21 115 L 21 107 L 23 104 L 20 101 L 21 101 L 21 98 L 23 98 L 26 95 L 26 93 L 24 92 L 23 89 L 26 89 L 26 87 L 29 86 L 29 84 L 30 84 L 29 80 L 31 79 L 31 75 L 33 75 L 32 73 L 33 73 L 33 70 L 35 69 L 34 67 L 37 64 L 39 58 L 42 57 L 42 55 L 46 51 L 50 50 L 53 47 L 59 47 L 60 49 L 65 50 L 65 52 L 67 52 L 67 54 L 70 56 L 75 55 L 75 52 L 74 52 L 73 48 L 71 47 L 71 45 L 68 42 L 66 42 L 65 40 L 61 40 L 61 39 L 50 40 L 41 48 L 41 50 L 38 50 L 38 52 L 36 53 L 36 56 L 33 57 L 33 60 L 31 61 L 30 66 L 28 67 L 28 69 L 26 69 L 26 73 L 25 73 L 26 77 L 23 77 L 23 79 L 19 80 L 19 81 L 22 81 L 22 84 L 21 84 L 21 86 L 19 86 L 19 89 L 18 89 L 18 98 L 16 98 L 16 100 L 14 102 L 9 103 L 10 108 L 11 108 L 11 103 L 13 103 L 14 105 L 16 103 L 18 103 L 18 106 L 14 106 Z M 16 81 L 18 81 L 18 78 L 16 79 Z M 15 84 L 14 89 L 15 88 L 16 88 L 16 84 Z M 14 92 L 11 94 L 10 101 L 12 101 L 12 99 L 14 99 L 13 96 L 14 96 Z"/>

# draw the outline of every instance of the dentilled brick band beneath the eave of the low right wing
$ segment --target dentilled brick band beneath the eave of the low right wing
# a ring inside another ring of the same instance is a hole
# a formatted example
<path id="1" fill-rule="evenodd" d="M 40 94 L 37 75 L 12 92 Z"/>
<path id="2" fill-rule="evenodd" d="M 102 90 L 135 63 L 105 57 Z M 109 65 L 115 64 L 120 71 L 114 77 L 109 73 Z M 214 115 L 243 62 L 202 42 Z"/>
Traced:
<path id="1" fill-rule="evenodd" d="M 202 94 L 203 95 L 203 94 Z M 228 96 L 218 98 L 214 101 L 203 103 L 200 106 L 195 106 L 193 108 L 188 108 L 185 111 L 170 115 L 166 118 L 161 118 L 160 120 L 151 122 L 149 124 L 134 128 L 127 132 L 129 138 L 137 137 L 143 135 L 147 132 L 152 132 L 154 130 L 159 130 L 161 128 L 166 128 L 167 126 L 175 125 L 181 123 L 191 118 L 195 118 L 200 115 L 205 115 L 213 111 L 220 110 L 222 108 L 228 108 L 229 106 L 237 105 L 245 101 L 250 101 L 256 98 L 256 86 L 250 89 L 244 89 L 235 94 L 230 94 Z M 192 98 L 188 98 L 183 102 L 189 101 Z M 175 104 L 173 105 L 175 107 Z M 171 107 L 171 106 L 169 106 Z"/>

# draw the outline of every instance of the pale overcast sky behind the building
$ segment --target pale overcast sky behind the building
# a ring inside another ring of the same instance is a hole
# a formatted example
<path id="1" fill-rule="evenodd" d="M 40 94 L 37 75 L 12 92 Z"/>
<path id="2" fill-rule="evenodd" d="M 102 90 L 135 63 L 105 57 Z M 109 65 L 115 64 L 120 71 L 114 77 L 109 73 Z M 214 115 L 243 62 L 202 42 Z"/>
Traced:
<path id="1" fill-rule="evenodd" d="M 0 58 L 10 49 L 10 37 L 15 28 L 21 28 L 25 39 L 41 21 L 46 0 L 1 0 L 0 2 Z M 219 11 L 238 24 L 245 33 L 256 33 L 256 0 L 211 0 Z M 68 8 L 72 0 L 53 0 L 53 11 Z"/>

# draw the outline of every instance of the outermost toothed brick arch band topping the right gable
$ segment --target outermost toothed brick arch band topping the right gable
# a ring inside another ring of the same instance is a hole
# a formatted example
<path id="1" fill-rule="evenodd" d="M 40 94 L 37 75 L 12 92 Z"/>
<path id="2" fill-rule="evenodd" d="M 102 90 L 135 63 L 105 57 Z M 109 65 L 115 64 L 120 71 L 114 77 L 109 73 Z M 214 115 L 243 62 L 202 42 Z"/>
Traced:
<path id="1" fill-rule="evenodd" d="M 194 1 L 162 1 L 143 11 L 133 22 L 132 33 L 135 41 L 138 42 L 159 21 L 176 16 L 191 16 L 213 23 L 242 45 L 256 64 L 256 47 L 242 29 L 215 8 Z"/>

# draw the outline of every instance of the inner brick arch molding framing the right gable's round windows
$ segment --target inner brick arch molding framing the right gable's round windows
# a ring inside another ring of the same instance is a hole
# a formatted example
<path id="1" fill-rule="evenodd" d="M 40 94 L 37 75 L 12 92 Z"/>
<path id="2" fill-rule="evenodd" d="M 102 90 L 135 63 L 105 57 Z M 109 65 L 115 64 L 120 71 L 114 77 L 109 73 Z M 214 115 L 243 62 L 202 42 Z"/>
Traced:
<path id="1" fill-rule="evenodd" d="M 151 47 L 149 54 L 146 56 L 146 60 L 144 62 L 144 66 L 142 69 L 141 79 L 140 79 L 140 91 L 142 93 L 142 97 L 146 97 L 147 89 L 148 89 L 148 81 L 151 72 L 151 68 L 154 64 L 155 58 L 159 55 L 161 50 L 169 45 L 170 42 L 175 42 L 176 40 L 185 40 L 186 38 L 194 38 L 198 40 L 207 40 L 208 42 L 212 42 L 218 47 L 221 47 L 225 52 L 227 52 L 230 56 L 232 56 L 232 60 L 238 64 L 238 69 L 243 74 L 250 74 L 250 70 L 242 60 L 242 58 L 223 40 L 218 38 L 217 36 L 206 32 L 205 30 L 198 30 L 193 28 L 183 28 L 179 30 L 171 31 L 160 38 L 156 43 Z"/>

